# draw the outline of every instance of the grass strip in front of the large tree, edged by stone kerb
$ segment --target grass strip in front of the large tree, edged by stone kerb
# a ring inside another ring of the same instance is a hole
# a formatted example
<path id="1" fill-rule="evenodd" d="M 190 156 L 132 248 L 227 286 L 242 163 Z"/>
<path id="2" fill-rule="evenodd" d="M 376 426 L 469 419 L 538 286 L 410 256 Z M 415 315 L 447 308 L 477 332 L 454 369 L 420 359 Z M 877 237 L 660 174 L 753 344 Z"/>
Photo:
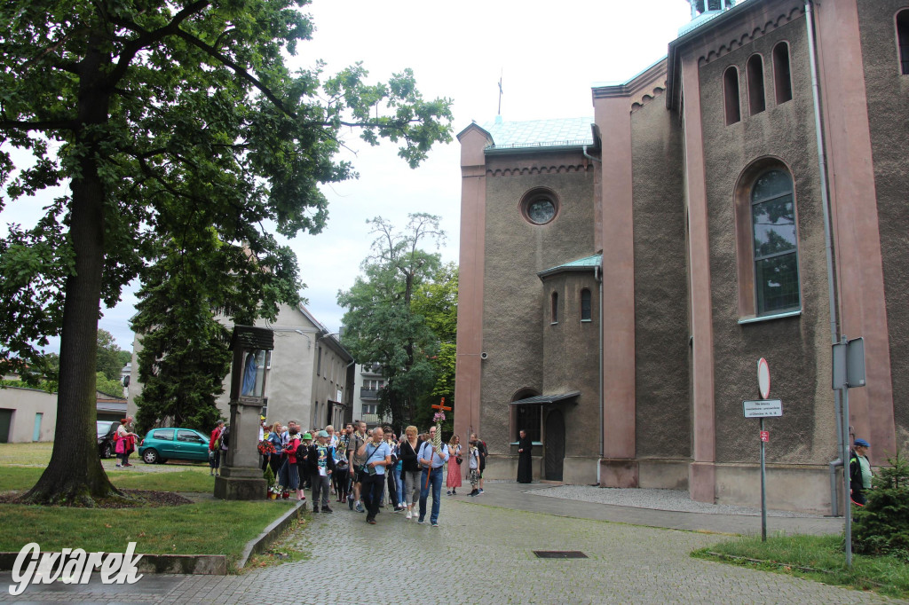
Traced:
<path id="1" fill-rule="evenodd" d="M 0 505 L 0 550 L 37 542 L 41 550 L 81 548 L 149 554 L 224 554 L 228 567 L 246 542 L 293 505 L 292 501 L 205 501 L 183 506 L 76 509 Z"/>

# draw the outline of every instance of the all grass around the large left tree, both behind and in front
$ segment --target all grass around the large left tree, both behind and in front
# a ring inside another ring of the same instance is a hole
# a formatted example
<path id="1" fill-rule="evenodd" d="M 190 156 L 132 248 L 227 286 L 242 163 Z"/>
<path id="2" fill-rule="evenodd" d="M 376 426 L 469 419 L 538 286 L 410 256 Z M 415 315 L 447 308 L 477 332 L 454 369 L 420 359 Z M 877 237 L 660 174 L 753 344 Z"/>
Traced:
<path id="1" fill-rule="evenodd" d="M 29 444 L 34 445 L 34 444 Z M 49 450 L 48 450 L 49 456 Z M 0 491 L 25 491 L 44 468 L 0 466 Z M 208 469 L 170 472 L 110 471 L 127 490 L 213 491 Z M 247 541 L 293 505 L 293 501 L 202 501 L 182 506 L 133 509 L 77 509 L 0 504 L 0 550 L 20 550 L 35 541 L 41 550 L 81 548 L 122 552 L 225 554 L 228 568 Z"/>

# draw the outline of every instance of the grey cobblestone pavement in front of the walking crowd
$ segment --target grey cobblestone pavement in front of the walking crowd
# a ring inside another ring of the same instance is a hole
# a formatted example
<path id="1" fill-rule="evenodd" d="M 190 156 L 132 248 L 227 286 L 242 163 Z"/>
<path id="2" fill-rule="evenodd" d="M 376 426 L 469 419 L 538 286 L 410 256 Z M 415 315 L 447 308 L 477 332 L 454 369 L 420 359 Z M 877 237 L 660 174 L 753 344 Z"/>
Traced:
<path id="1" fill-rule="evenodd" d="M 76 590 L 31 587 L 19 600 L 222 604 L 282 602 L 285 597 L 275 595 L 295 594 L 293 602 L 328 603 L 340 598 L 346 579 L 374 595 L 371 603 L 447 600 L 442 595 L 452 594 L 453 586 L 464 603 L 896 602 L 689 557 L 724 539 L 709 533 L 515 511 L 460 497 L 445 499 L 440 528 L 385 511 L 377 525 L 364 519 L 342 506 L 316 515 L 285 541 L 308 559 L 239 576 L 148 576 L 132 587 Z M 537 559 L 533 550 L 582 550 L 588 559 Z M 8 573 L 0 574 L 0 582 L 8 581 Z M 4 591 L 0 600 L 16 599 Z"/>

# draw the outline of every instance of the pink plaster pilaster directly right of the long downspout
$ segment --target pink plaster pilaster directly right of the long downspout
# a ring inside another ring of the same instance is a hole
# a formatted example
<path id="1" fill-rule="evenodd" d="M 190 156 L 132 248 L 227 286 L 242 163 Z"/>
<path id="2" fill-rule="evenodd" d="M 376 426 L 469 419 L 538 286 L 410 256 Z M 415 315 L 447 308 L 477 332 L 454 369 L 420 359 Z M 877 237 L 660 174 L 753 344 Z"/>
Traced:
<path id="1" fill-rule="evenodd" d="M 894 392 L 858 11 L 855 0 L 815 10 L 841 333 L 865 346 L 867 386 L 849 392 L 850 422 L 880 464 L 896 448 Z"/>

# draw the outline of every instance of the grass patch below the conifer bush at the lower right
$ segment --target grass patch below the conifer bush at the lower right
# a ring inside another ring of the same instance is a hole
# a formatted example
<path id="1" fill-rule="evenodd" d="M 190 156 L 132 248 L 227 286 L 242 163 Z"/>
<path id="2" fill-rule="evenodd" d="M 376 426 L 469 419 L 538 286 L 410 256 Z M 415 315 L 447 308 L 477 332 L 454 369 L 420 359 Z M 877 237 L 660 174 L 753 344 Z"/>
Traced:
<path id="1" fill-rule="evenodd" d="M 692 556 L 786 573 L 826 584 L 909 597 L 909 564 L 894 557 L 853 556 L 845 566 L 843 536 L 744 536 L 695 550 Z"/>

